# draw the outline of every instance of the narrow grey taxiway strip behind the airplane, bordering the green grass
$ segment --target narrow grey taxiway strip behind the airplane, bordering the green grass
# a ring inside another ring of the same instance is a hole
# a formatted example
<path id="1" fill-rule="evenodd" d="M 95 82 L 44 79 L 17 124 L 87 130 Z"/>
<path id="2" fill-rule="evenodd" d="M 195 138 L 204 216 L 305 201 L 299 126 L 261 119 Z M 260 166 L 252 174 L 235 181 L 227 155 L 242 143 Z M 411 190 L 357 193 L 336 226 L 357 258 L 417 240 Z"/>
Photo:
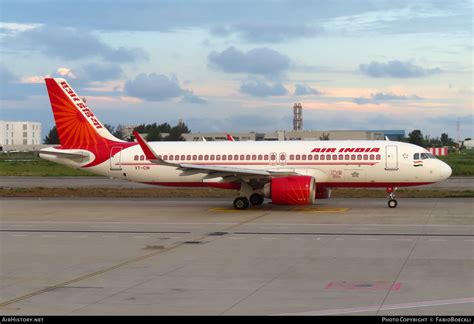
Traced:
<path id="1" fill-rule="evenodd" d="M 106 177 L 0 177 L 1 188 L 153 188 L 153 186 L 134 183 L 122 179 Z M 413 189 L 472 190 L 474 177 L 450 177 L 431 185 L 411 187 Z"/>

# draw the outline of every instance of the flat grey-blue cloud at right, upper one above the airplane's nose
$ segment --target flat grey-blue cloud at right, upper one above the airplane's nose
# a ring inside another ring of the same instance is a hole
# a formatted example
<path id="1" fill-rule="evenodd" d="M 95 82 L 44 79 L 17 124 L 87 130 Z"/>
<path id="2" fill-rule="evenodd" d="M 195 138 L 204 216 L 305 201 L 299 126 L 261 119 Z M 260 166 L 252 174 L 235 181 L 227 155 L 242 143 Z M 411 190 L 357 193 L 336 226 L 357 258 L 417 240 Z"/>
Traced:
<path id="1" fill-rule="evenodd" d="M 360 64 L 359 70 L 372 78 L 419 78 L 441 73 L 440 68 L 423 68 L 411 62 L 390 61 L 379 63 L 372 61 L 369 64 Z"/>

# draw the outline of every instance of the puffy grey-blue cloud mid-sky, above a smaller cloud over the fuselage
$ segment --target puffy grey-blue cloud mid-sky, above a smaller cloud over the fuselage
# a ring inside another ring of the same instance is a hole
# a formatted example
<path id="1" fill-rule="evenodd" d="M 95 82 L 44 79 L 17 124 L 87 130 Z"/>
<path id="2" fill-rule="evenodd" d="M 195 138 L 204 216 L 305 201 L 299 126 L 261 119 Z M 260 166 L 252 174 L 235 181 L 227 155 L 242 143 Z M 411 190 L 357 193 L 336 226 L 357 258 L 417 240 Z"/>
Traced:
<path id="1" fill-rule="evenodd" d="M 218 53 L 213 51 L 208 56 L 209 64 L 226 73 L 251 73 L 263 76 L 279 75 L 290 66 L 290 59 L 270 48 L 254 48 L 242 52 L 229 47 Z"/>

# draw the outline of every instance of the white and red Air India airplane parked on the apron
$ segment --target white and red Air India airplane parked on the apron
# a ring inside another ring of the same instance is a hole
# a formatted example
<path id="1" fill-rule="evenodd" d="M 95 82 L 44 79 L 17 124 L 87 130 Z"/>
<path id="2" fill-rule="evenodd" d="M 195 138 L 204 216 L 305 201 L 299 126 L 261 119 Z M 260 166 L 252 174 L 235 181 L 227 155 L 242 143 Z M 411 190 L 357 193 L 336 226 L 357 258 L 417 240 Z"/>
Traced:
<path id="1" fill-rule="evenodd" d="M 422 147 L 396 141 L 136 142 L 114 137 L 66 80 L 46 78 L 60 145 L 48 161 L 103 176 L 172 187 L 239 190 L 234 207 L 311 205 L 332 188 L 386 188 L 443 181 L 451 168 Z"/>

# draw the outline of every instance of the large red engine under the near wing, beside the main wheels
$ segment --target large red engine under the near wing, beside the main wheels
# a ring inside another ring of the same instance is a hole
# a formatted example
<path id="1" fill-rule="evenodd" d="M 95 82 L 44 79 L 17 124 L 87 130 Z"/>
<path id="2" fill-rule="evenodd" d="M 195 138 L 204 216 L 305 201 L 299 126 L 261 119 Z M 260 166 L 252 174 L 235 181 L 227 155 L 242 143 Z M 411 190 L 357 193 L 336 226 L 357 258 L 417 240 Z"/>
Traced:
<path id="1" fill-rule="evenodd" d="M 274 178 L 263 188 L 265 197 L 275 205 L 314 204 L 316 181 L 311 176 Z"/>

